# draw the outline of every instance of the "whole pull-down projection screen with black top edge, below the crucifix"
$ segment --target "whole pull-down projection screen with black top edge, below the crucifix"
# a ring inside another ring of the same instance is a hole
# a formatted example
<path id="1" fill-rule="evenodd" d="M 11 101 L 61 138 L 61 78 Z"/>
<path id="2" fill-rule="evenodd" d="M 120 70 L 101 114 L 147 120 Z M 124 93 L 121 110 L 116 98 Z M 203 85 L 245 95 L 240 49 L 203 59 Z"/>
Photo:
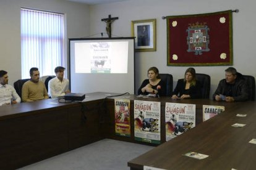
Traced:
<path id="1" fill-rule="evenodd" d="M 69 39 L 71 92 L 134 94 L 134 38 Z"/>

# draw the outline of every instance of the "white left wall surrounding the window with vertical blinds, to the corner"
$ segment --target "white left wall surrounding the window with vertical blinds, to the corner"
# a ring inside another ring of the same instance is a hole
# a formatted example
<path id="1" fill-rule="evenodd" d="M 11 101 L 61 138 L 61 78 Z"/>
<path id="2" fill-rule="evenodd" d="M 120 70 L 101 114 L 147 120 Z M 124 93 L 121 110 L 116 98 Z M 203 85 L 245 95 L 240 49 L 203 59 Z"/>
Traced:
<path id="1" fill-rule="evenodd" d="M 85 4 L 65 0 L 1 0 L 0 1 L 0 70 L 6 70 L 9 84 L 21 78 L 20 7 L 66 14 L 67 39 L 80 38 L 89 33 L 89 9 Z M 68 51 L 65 67 L 67 68 Z M 29 70 L 28 70 L 29 74 Z"/>

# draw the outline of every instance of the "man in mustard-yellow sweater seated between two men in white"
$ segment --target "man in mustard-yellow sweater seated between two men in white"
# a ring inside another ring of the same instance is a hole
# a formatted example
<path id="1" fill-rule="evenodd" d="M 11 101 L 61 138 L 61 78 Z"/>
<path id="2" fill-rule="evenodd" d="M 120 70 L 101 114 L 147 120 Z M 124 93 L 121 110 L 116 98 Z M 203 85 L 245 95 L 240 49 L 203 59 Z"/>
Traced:
<path id="1" fill-rule="evenodd" d="M 33 102 L 35 100 L 48 99 L 45 83 L 39 81 L 38 68 L 30 68 L 30 80 L 22 86 L 22 101 Z"/>

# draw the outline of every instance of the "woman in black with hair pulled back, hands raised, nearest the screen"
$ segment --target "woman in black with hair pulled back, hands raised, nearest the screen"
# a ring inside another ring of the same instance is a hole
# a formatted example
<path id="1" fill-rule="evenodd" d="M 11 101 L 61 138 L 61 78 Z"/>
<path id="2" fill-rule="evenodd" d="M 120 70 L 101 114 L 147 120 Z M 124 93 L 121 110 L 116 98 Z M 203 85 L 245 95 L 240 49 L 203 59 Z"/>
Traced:
<path id="1" fill-rule="evenodd" d="M 166 83 L 161 80 L 158 68 L 150 67 L 148 69 L 148 79 L 145 79 L 138 90 L 138 94 L 148 95 L 157 94 L 166 95 Z"/>

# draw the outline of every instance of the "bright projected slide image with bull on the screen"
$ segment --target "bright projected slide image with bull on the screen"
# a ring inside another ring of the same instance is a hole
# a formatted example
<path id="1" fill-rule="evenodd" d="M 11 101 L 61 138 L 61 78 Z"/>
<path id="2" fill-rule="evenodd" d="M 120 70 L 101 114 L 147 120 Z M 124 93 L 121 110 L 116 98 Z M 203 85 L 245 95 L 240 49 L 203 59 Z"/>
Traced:
<path id="1" fill-rule="evenodd" d="M 129 42 L 76 42 L 75 73 L 127 73 Z"/>

